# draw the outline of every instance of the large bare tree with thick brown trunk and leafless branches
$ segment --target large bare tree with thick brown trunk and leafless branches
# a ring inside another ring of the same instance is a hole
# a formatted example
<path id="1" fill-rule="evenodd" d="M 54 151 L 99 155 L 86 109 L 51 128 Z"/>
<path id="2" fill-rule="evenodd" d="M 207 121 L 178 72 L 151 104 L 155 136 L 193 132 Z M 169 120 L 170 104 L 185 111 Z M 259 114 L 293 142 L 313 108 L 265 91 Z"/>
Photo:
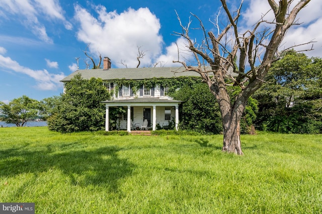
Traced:
<path id="1" fill-rule="evenodd" d="M 213 23 L 217 34 L 212 31 L 206 32 L 201 20 L 192 14 L 200 22 L 200 29 L 204 34 L 201 44 L 195 42 L 189 35 L 191 21 L 188 26 L 183 26 L 178 16 L 183 31 L 176 34 L 188 41 L 187 46 L 194 54 L 198 65 L 188 66 L 179 59 L 174 62 L 182 63 L 186 70 L 199 73 L 216 97 L 222 117 L 224 135 L 222 151 L 243 154 L 239 121 L 247 101 L 262 86 L 271 64 L 279 60 L 281 52 L 287 50 L 278 49 L 287 30 L 292 25 L 298 24 L 296 20 L 298 12 L 310 2 L 300 0 L 292 4 L 293 0 L 267 1 L 275 15 L 274 21 L 265 20 L 263 15 L 253 29 L 244 32 L 240 32 L 241 28 L 238 26 L 243 1 L 236 11 L 231 12 L 226 1 L 220 0 L 222 10 L 225 12 L 223 16 L 228 24 L 220 28 L 219 21 Z M 291 8 L 291 4 L 295 6 Z M 233 100 L 227 92 L 228 85 L 241 88 Z"/>

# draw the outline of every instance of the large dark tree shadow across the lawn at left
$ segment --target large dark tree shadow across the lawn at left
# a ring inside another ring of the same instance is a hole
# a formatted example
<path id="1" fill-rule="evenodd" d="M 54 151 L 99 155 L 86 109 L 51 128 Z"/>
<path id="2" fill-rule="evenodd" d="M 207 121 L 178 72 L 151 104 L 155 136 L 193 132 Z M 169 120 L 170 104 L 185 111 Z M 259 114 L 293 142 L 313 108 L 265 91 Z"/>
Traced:
<path id="1" fill-rule="evenodd" d="M 41 151 L 24 146 L 0 150 L 0 176 L 47 172 L 59 169 L 71 185 L 102 185 L 117 191 L 120 179 L 133 172 L 134 164 L 118 157 L 115 146 L 96 149 L 79 148 L 76 144 L 48 145 Z M 69 149 L 69 150 L 68 150 Z"/>

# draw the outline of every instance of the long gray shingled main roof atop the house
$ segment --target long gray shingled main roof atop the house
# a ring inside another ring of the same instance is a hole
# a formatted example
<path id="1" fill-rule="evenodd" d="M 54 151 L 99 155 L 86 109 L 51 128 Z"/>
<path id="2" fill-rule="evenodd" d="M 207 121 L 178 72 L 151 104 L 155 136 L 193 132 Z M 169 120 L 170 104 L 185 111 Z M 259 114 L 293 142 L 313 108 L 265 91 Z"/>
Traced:
<path id="1" fill-rule="evenodd" d="M 163 68 L 110 68 L 103 69 L 82 69 L 68 75 L 61 82 L 68 82 L 74 75 L 80 73 L 84 79 L 92 77 L 101 78 L 102 80 L 141 80 L 154 78 L 173 78 L 181 76 L 196 76 L 200 75 L 194 71 L 185 71 L 184 67 L 163 67 Z"/>

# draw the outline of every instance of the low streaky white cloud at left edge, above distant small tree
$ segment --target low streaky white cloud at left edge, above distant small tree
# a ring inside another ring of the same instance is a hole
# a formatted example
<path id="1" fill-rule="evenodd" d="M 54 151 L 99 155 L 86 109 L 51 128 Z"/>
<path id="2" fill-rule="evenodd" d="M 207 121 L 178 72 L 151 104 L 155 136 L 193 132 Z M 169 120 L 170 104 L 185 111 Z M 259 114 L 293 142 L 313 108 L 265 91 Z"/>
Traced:
<path id="1" fill-rule="evenodd" d="M 0 67 L 9 71 L 22 73 L 33 78 L 37 82 L 37 88 L 41 90 L 55 90 L 61 87 L 62 83 L 59 81 L 65 77 L 63 73 L 51 74 L 47 70 L 32 70 L 30 68 L 19 65 L 17 61 L 12 60 L 10 57 L 0 55 Z"/>

